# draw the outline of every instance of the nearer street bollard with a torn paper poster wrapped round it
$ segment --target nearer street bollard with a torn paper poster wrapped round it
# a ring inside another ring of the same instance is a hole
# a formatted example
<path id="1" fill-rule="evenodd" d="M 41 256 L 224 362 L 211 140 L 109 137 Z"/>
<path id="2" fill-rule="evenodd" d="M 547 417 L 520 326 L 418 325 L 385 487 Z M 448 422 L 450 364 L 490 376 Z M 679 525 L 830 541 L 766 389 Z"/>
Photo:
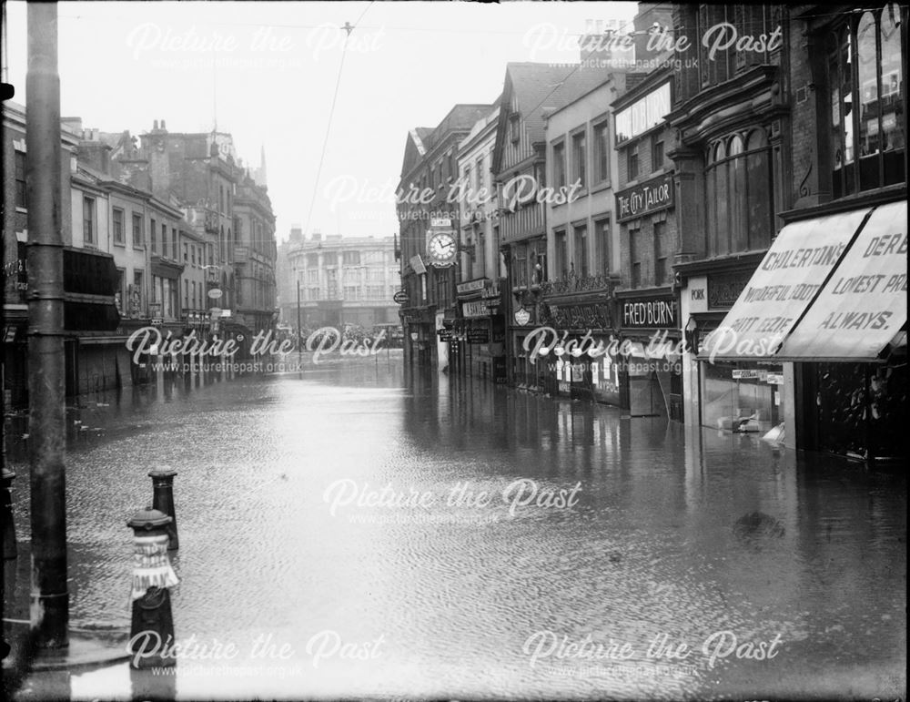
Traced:
<path id="1" fill-rule="evenodd" d="M 167 556 L 167 524 L 171 518 L 147 507 L 133 515 L 126 525 L 134 533 L 132 623 L 129 630 L 129 665 L 133 668 L 174 666 L 168 656 L 174 646 L 174 617 L 171 615 L 170 590 L 177 585 L 177 574 Z"/>

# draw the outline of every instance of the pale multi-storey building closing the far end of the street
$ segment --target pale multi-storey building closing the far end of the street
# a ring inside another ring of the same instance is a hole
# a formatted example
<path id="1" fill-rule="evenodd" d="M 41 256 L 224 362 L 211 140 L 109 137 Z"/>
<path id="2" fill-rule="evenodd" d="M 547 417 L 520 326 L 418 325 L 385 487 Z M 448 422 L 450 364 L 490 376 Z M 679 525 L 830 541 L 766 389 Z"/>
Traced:
<path id="1" fill-rule="evenodd" d="M 293 300 L 282 301 L 285 321 L 308 328 L 356 324 L 370 328 L 399 320 L 392 296 L 399 290 L 399 270 L 392 237 L 323 237 L 289 242 L 286 256 L 294 280 Z"/>

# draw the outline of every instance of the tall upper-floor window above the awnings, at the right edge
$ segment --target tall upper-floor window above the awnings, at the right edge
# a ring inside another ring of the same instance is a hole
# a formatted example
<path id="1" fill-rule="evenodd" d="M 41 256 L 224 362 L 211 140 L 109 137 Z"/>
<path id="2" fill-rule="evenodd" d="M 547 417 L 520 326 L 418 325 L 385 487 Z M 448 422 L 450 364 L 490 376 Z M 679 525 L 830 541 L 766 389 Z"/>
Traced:
<path id="1" fill-rule="evenodd" d="M 906 18 L 892 3 L 827 36 L 834 198 L 906 182 Z"/>

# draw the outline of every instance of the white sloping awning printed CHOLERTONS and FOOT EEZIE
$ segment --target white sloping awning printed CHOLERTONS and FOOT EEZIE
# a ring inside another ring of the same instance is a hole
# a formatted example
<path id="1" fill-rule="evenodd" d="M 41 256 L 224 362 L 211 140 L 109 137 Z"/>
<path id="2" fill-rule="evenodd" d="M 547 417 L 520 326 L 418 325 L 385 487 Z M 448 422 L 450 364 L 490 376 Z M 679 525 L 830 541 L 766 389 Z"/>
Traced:
<path id="1" fill-rule="evenodd" d="M 784 227 L 733 308 L 704 339 L 699 359 L 777 359 L 784 339 L 818 297 L 871 211 L 858 209 Z"/>

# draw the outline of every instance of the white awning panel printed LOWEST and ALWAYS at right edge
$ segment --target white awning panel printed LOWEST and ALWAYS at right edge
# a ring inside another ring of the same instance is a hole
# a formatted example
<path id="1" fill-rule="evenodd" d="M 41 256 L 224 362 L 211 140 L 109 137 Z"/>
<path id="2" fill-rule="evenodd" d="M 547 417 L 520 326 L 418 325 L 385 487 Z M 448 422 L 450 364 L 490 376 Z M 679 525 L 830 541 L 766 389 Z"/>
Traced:
<path id="1" fill-rule="evenodd" d="M 907 320 L 907 206 L 875 208 L 782 358 L 876 361 Z"/>

